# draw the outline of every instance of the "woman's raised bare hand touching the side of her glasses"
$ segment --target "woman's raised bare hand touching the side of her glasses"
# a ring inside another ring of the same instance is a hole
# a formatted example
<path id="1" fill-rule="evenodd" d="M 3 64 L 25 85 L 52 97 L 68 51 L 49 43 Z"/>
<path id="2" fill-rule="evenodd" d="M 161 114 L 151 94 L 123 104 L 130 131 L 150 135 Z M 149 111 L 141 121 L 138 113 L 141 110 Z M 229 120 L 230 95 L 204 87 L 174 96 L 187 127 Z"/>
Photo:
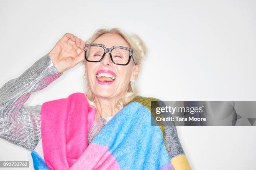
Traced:
<path id="1" fill-rule="evenodd" d="M 69 70 L 84 60 L 84 45 L 81 38 L 66 33 L 49 52 L 49 56 L 59 73 Z"/>

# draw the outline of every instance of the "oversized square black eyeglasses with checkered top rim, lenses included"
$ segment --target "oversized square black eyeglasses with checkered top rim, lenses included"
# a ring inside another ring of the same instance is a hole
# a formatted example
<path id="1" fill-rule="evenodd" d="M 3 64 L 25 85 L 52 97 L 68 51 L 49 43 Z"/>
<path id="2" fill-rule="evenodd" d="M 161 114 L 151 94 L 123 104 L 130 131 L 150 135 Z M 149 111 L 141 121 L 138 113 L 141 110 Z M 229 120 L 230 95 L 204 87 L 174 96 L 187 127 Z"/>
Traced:
<path id="1" fill-rule="evenodd" d="M 110 54 L 110 59 L 114 64 L 128 65 L 131 57 L 133 57 L 133 61 L 136 64 L 136 55 L 131 48 L 117 45 L 106 48 L 103 44 L 95 43 L 84 46 L 84 57 L 89 62 L 100 62 L 106 53 Z"/>

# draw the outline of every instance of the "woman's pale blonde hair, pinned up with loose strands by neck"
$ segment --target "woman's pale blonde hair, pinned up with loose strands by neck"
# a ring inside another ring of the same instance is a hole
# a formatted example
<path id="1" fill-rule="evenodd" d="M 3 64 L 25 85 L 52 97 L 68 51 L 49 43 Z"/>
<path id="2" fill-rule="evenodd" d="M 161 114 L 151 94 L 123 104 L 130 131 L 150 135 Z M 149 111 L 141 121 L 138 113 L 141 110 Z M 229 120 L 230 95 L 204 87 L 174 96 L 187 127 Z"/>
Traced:
<path id="1" fill-rule="evenodd" d="M 144 45 L 143 41 L 141 40 L 138 35 L 127 35 L 123 30 L 120 30 L 119 28 L 112 28 L 110 30 L 108 29 L 100 29 L 94 32 L 92 37 L 90 37 L 87 42 L 92 43 L 95 41 L 98 37 L 100 37 L 103 34 L 111 33 L 111 34 L 118 34 L 123 39 L 128 42 L 128 45 L 133 49 L 136 55 L 136 63 L 141 64 L 142 58 L 146 55 L 146 46 Z M 84 60 L 85 62 L 85 60 Z M 88 82 L 85 83 L 85 91 L 87 100 L 90 105 L 96 107 L 95 105 L 95 95 L 92 93 L 92 90 L 90 90 L 88 86 Z M 121 110 L 124 105 L 126 105 L 128 102 L 133 100 L 133 98 L 137 95 L 137 89 L 136 86 L 133 84 L 133 82 L 130 82 L 127 93 L 118 99 L 118 101 L 115 103 L 115 109 L 117 111 Z"/>

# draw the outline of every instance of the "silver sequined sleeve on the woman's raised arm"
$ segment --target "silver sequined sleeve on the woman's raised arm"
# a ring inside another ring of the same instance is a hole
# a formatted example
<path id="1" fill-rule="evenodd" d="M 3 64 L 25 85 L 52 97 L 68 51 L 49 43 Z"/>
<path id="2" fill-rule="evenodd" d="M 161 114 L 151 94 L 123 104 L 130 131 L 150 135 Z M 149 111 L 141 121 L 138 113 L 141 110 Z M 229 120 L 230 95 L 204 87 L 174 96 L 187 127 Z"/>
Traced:
<path id="1" fill-rule="evenodd" d="M 47 87 L 61 75 L 47 53 L 0 88 L 0 138 L 27 150 L 36 147 L 41 139 L 41 105 L 24 103 L 33 92 Z"/>

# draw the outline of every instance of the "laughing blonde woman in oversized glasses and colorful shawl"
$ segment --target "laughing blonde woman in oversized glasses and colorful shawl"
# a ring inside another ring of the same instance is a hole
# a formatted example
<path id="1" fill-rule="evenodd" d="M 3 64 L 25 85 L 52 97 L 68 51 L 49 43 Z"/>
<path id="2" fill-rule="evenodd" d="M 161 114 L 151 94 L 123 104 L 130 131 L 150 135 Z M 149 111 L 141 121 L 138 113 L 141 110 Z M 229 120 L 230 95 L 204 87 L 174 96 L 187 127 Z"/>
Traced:
<path id="1" fill-rule="evenodd" d="M 151 100 L 159 100 L 136 95 L 145 54 L 138 36 L 117 28 L 98 30 L 86 43 L 66 33 L 1 87 L 0 137 L 31 150 L 35 169 L 189 170 L 175 126 L 151 125 Z M 23 105 L 81 61 L 86 95 Z"/>

